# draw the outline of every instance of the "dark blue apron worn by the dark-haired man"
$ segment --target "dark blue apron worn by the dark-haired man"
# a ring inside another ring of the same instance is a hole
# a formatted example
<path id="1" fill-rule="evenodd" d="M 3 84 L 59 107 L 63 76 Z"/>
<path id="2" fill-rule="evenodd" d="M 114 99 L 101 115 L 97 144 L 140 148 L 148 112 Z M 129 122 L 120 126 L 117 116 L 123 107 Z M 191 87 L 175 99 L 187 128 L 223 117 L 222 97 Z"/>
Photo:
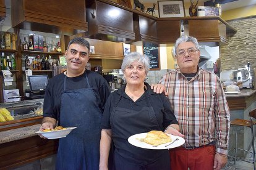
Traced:
<path id="1" fill-rule="evenodd" d="M 59 124 L 77 128 L 59 139 L 56 169 L 99 169 L 102 113 L 86 72 L 85 78 L 88 88 L 69 91 L 64 79 Z"/>

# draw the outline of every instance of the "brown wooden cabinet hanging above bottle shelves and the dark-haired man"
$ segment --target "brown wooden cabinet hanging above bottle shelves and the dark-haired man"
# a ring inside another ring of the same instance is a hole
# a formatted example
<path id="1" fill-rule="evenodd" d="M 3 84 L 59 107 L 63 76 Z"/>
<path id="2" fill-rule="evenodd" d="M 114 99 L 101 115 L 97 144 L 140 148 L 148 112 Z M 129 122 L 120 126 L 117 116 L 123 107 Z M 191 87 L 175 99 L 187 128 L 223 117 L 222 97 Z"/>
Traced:
<path id="1" fill-rule="evenodd" d="M 84 0 L 12 0 L 12 28 L 73 35 L 87 31 Z"/>

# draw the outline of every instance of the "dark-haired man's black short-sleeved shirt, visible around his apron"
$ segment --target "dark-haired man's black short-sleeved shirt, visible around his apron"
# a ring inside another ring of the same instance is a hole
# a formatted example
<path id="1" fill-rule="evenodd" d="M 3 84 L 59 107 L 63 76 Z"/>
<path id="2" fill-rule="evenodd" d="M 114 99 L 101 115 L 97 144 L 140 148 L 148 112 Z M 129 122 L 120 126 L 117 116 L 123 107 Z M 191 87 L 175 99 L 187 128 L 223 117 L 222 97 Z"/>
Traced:
<path id="1" fill-rule="evenodd" d="M 103 76 L 90 70 L 86 70 L 90 87 L 96 94 L 96 102 L 103 113 L 106 100 L 110 94 L 109 86 Z M 61 107 L 61 94 L 64 89 L 64 73 L 54 76 L 49 80 L 45 91 L 43 104 L 43 117 L 58 119 Z M 66 79 L 66 90 L 88 88 L 85 73 L 80 76 Z M 84 101 L 86 102 L 86 101 Z"/>

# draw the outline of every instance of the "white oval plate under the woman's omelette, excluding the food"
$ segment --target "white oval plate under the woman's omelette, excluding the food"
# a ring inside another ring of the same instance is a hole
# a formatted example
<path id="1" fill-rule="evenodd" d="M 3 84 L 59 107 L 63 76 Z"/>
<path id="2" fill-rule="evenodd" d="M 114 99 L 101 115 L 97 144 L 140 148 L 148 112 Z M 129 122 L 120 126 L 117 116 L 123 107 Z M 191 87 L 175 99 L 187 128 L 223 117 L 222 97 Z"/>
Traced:
<path id="1" fill-rule="evenodd" d="M 185 140 L 182 137 L 179 136 L 174 136 L 171 134 L 167 134 L 169 137 L 171 137 L 171 141 L 173 142 L 176 139 L 179 139 L 177 141 L 175 141 L 173 144 L 170 144 L 171 142 L 168 142 L 166 144 L 161 144 L 158 145 L 157 147 L 153 147 L 154 145 L 150 145 L 147 144 L 145 142 L 141 142 L 139 139 L 144 139 L 145 137 L 147 137 L 147 133 L 142 133 L 142 134 L 135 134 L 133 136 L 130 136 L 128 139 L 128 142 L 132 145 L 134 145 L 135 147 L 140 147 L 140 148 L 147 148 L 147 149 L 168 149 L 168 148 L 176 148 L 181 146 L 182 144 L 185 143 Z M 166 145 L 168 145 L 166 147 Z"/>

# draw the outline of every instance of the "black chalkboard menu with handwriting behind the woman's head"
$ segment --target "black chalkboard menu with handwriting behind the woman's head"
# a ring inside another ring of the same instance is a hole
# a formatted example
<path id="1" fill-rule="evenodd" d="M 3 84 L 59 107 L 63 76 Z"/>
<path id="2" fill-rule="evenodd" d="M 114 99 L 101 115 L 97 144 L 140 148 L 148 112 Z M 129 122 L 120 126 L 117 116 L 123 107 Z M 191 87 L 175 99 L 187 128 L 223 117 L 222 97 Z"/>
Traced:
<path id="1" fill-rule="evenodd" d="M 158 57 L 158 44 L 154 42 L 143 41 L 143 54 L 147 55 L 150 59 L 150 69 L 160 69 L 160 59 Z"/>

